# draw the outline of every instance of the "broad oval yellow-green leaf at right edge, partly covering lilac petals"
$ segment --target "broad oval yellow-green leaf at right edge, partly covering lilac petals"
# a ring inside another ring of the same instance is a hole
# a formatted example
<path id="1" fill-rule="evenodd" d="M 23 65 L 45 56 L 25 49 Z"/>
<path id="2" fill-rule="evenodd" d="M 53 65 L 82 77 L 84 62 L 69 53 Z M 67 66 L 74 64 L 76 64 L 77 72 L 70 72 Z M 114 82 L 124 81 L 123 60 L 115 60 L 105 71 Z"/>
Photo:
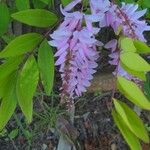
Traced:
<path id="1" fill-rule="evenodd" d="M 135 72 L 148 72 L 150 65 L 138 54 L 127 52 L 120 56 L 121 64 Z"/>

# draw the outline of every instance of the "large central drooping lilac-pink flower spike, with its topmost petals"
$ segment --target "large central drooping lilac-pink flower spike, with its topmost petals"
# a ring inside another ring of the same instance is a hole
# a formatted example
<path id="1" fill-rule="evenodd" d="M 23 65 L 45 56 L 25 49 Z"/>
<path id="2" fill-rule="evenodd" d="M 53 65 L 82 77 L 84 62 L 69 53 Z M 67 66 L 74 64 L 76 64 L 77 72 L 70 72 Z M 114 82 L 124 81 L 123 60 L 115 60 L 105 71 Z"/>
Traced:
<path id="1" fill-rule="evenodd" d="M 60 66 L 62 78 L 62 99 L 74 96 L 81 96 L 82 92 L 90 86 L 90 80 L 96 72 L 96 60 L 99 57 L 96 45 L 102 45 L 95 39 L 99 28 L 93 27 L 92 23 L 97 22 L 97 16 L 85 15 L 79 11 L 68 12 L 80 0 L 75 0 L 66 6 L 61 7 L 65 16 L 59 28 L 51 34 L 49 43 L 57 48 L 55 56 L 58 57 L 56 65 Z M 82 27 L 85 20 L 86 27 Z"/>

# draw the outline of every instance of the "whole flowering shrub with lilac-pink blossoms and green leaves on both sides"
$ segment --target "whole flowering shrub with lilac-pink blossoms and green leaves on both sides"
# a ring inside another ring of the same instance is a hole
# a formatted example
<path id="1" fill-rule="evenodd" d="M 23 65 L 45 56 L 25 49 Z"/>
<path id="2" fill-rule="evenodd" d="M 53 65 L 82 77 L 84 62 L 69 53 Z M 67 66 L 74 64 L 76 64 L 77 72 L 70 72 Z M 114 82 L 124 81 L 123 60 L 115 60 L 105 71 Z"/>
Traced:
<path id="1" fill-rule="evenodd" d="M 43 2 L 45 5 L 49 3 L 48 0 Z M 26 3 L 25 8 L 22 8 L 19 1 L 16 2 L 20 11 L 11 15 L 14 20 L 51 29 L 44 36 L 38 33 L 18 36 L 0 52 L 0 58 L 4 60 L 0 66 L 0 129 L 10 119 L 17 103 L 31 122 L 32 99 L 39 74 L 45 93 L 50 95 L 54 79 L 52 47 L 57 49 L 55 65 L 59 66 L 62 79 L 61 102 L 66 103 L 68 110 L 74 105 L 74 98 L 81 96 L 90 86 L 101 55 L 98 47 L 104 47 L 110 52 L 109 63 L 116 67 L 112 73 L 119 91 L 133 104 L 150 110 L 150 101 L 141 85 L 150 71 L 150 65 L 141 56 L 150 53 L 143 34 L 144 31 L 150 31 L 150 26 L 143 19 L 147 10 L 141 9 L 147 2 L 138 1 L 140 7 L 135 2 L 122 2 L 120 5 L 109 0 L 62 0 L 62 3 L 65 6 L 60 5 L 60 10 L 64 18 L 58 21 L 57 16 L 50 11 L 30 9 Z M 0 11 L 5 11 L 5 19 L 0 16 L 3 21 L 0 35 L 3 36 L 10 21 L 5 3 L 0 3 Z M 58 28 L 54 30 L 56 26 Z M 112 28 L 115 33 L 114 39 L 108 43 L 97 38 L 104 27 Z M 50 35 L 49 42 L 46 40 L 47 35 Z M 114 93 L 115 88 L 112 98 Z M 115 98 L 113 102 L 112 116 L 116 125 L 130 148 L 140 150 L 139 140 L 149 142 L 143 122 L 124 102 Z"/>

